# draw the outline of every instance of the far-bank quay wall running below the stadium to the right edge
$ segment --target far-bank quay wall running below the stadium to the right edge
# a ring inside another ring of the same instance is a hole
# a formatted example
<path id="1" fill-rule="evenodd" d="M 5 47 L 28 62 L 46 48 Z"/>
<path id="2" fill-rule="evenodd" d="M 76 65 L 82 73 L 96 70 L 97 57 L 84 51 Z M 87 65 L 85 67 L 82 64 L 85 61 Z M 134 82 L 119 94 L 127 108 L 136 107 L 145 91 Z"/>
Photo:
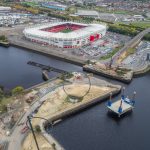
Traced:
<path id="1" fill-rule="evenodd" d="M 22 43 L 17 42 L 16 40 L 15 41 L 10 40 L 10 45 L 14 46 L 14 47 L 23 48 L 25 50 L 32 51 L 34 53 L 39 53 L 39 54 L 42 54 L 42 55 L 45 55 L 45 56 L 49 56 L 49 57 L 55 58 L 57 60 L 62 60 L 64 62 L 68 62 L 68 63 L 71 63 L 71 64 L 81 66 L 81 67 L 83 67 L 83 71 L 91 72 L 91 73 L 94 73 L 94 74 L 97 74 L 97 75 L 100 75 L 100 76 L 104 76 L 104 77 L 107 77 L 107 78 L 111 78 L 111 79 L 114 79 L 114 80 L 118 80 L 118 81 L 121 81 L 121 82 L 124 82 L 124 83 L 130 83 L 132 81 L 132 77 L 128 78 L 128 79 L 125 79 L 125 78 L 121 78 L 119 76 L 116 77 L 116 76 L 113 76 L 113 75 L 110 75 L 110 74 L 107 74 L 107 73 L 98 72 L 98 71 L 90 69 L 90 68 L 85 68 L 84 65 L 86 64 L 86 61 L 87 61 L 86 59 L 83 60 L 83 59 L 80 59 L 80 58 L 78 58 L 76 56 L 72 56 L 72 55 L 67 56 L 66 54 L 62 54 L 62 53 L 58 52 L 57 49 L 56 49 L 56 51 L 54 51 L 55 48 L 53 48 L 54 50 L 46 51 L 46 50 L 42 49 L 42 47 L 37 46 L 37 49 L 35 49 L 34 47 L 31 47 L 30 44 L 29 45 L 22 44 Z M 141 70 L 134 71 L 133 77 L 137 77 L 137 76 L 145 74 L 146 72 L 148 72 L 150 70 L 148 68 L 144 67 Z"/>

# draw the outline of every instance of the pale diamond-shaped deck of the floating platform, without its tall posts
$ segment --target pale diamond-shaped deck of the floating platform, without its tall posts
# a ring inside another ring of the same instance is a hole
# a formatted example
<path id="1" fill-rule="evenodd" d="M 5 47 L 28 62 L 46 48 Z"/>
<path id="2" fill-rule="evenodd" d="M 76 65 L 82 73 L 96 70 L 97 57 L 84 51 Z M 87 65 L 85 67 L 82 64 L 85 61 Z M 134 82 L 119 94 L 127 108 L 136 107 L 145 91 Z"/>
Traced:
<path id="1" fill-rule="evenodd" d="M 119 101 L 112 103 L 111 105 L 107 105 L 107 108 L 113 113 L 117 114 L 118 117 L 120 117 L 122 114 L 125 114 L 126 112 L 131 111 L 134 107 L 130 103 L 124 100 L 119 100 Z"/>

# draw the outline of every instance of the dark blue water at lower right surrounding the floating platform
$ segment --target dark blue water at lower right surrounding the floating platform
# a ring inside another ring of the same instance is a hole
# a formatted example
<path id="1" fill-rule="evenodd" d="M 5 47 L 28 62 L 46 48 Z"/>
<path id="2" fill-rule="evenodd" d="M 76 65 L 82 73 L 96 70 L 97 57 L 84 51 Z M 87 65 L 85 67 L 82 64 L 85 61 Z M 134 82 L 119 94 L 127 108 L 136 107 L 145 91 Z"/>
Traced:
<path id="1" fill-rule="evenodd" d="M 137 92 L 132 113 L 117 119 L 100 103 L 56 125 L 51 134 L 66 150 L 149 150 L 150 74 L 125 86 L 126 94 Z"/>

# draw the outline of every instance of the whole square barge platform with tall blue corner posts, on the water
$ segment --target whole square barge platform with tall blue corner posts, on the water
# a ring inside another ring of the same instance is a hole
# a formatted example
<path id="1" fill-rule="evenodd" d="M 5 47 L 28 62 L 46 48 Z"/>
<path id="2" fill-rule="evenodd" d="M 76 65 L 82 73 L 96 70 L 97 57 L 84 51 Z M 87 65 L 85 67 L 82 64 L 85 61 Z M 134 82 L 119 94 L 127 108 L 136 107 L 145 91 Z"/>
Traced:
<path id="1" fill-rule="evenodd" d="M 124 91 L 124 89 L 123 89 L 123 91 Z M 135 95 L 136 95 L 136 92 L 133 93 L 132 99 L 129 99 L 128 97 L 125 97 L 123 94 L 123 95 L 121 95 L 120 100 L 112 103 L 112 101 L 111 101 L 112 94 L 110 94 L 110 99 L 107 103 L 108 110 L 110 112 L 113 112 L 114 114 L 118 115 L 118 117 L 120 117 L 121 115 L 123 115 L 129 111 L 132 111 L 132 109 L 134 108 L 134 104 L 135 104 Z"/>

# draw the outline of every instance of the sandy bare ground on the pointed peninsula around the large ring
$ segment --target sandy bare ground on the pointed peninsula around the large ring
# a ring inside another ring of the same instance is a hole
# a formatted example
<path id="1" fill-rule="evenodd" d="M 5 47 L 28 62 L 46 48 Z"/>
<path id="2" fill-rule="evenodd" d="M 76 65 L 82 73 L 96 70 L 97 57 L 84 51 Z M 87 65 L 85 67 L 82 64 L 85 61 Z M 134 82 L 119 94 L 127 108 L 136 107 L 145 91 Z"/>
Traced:
<path id="1" fill-rule="evenodd" d="M 67 89 L 67 92 L 72 95 L 76 96 L 82 96 L 84 93 L 87 92 L 89 85 L 83 84 L 73 84 L 73 85 L 67 85 L 65 87 Z M 91 89 L 89 93 L 83 98 L 81 102 L 85 102 L 88 100 L 92 100 L 94 98 L 103 96 L 109 92 L 111 92 L 113 88 L 110 87 L 99 87 L 99 86 L 91 86 Z M 46 119 L 49 119 L 50 116 L 53 116 L 55 113 L 58 113 L 60 111 L 65 111 L 66 109 L 69 109 L 71 107 L 76 106 L 79 103 L 71 103 L 66 101 L 67 95 L 64 92 L 62 87 L 57 88 L 54 92 L 51 92 L 45 96 L 45 102 L 40 107 L 38 113 L 35 116 L 38 117 L 44 117 Z M 40 123 L 39 119 L 32 119 L 33 126 Z"/>

